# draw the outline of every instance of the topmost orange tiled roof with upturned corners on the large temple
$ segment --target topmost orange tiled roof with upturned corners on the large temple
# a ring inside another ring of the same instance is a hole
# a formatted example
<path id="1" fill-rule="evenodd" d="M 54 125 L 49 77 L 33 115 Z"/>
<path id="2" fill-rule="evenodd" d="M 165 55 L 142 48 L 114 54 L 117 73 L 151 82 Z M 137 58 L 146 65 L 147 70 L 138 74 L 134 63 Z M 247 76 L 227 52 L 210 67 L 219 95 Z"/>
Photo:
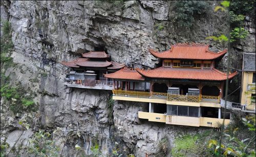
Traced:
<path id="1" fill-rule="evenodd" d="M 149 49 L 150 53 L 156 58 L 162 59 L 193 59 L 193 60 L 214 60 L 224 56 L 227 49 L 214 53 L 208 49 L 206 44 L 176 44 L 169 50 L 159 53 Z"/>

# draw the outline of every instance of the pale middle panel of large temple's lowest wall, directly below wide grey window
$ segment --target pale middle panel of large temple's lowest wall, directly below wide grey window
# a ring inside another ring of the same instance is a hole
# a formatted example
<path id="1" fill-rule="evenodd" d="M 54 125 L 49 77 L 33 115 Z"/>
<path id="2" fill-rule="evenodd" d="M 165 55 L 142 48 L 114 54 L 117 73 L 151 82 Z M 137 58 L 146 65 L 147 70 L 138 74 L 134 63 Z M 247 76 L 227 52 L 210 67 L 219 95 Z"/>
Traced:
<path id="1" fill-rule="evenodd" d="M 166 124 L 200 126 L 200 118 L 185 116 L 166 116 Z"/>

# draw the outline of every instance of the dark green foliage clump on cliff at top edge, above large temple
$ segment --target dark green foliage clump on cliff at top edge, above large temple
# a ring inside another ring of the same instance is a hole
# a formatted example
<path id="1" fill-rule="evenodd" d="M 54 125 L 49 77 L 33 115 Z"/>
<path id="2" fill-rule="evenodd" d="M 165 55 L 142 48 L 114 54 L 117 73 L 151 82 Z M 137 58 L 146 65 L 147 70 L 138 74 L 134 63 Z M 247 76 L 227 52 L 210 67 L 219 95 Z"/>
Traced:
<path id="1" fill-rule="evenodd" d="M 175 22 L 180 27 L 190 28 L 195 17 L 206 13 L 209 5 L 205 1 L 177 1 L 175 8 Z"/>

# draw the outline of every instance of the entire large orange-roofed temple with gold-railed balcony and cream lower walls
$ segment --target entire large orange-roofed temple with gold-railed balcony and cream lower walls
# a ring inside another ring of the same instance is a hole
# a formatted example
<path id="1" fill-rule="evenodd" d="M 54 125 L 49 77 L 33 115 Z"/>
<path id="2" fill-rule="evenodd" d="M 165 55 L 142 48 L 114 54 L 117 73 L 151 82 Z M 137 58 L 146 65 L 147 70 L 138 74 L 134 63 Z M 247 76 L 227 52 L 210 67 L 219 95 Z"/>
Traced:
<path id="1" fill-rule="evenodd" d="M 176 44 L 159 53 L 162 66 L 152 70 L 122 68 L 104 74 L 113 79 L 113 99 L 148 102 L 147 111 L 138 117 L 148 121 L 187 126 L 219 127 L 225 116 L 220 100 L 227 74 L 216 64 L 227 49 L 214 53 L 206 44 Z M 237 72 L 229 73 L 232 79 Z"/>

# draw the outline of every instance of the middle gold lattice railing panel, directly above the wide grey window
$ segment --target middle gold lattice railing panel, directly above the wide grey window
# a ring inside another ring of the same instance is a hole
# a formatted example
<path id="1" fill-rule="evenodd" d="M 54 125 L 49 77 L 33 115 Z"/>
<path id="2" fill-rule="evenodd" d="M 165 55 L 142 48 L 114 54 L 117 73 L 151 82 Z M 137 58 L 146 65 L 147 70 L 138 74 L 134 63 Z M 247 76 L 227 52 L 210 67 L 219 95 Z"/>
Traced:
<path id="1" fill-rule="evenodd" d="M 178 94 L 168 94 L 167 101 L 187 101 L 187 102 L 199 102 L 199 95 L 178 95 Z"/>

